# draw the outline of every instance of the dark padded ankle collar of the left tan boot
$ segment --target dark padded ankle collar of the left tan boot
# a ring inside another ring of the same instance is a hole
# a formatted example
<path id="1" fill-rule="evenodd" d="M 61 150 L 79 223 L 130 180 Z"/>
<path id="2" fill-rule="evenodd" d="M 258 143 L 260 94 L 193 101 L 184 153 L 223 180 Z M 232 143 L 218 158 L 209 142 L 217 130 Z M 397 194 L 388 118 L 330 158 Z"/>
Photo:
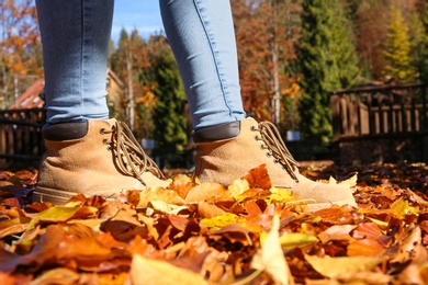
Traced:
<path id="1" fill-rule="evenodd" d="M 88 134 L 88 121 L 54 125 L 47 124 L 43 127 L 42 134 L 47 140 L 79 139 Z"/>

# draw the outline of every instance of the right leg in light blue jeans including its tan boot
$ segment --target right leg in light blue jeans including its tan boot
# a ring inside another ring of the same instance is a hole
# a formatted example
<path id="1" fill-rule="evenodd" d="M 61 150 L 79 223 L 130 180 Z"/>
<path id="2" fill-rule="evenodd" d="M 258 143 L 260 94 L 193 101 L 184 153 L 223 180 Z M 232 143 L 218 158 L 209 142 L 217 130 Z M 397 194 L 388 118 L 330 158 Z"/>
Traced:
<path id="1" fill-rule="evenodd" d="M 229 0 L 160 0 L 160 8 L 194 123 L 200 181 L 227 186 L 264 166 L 273 186 L 314 200 L 312 209 L 356 205 L 349 187 L 303 176 L 271 123 L 245 118 Z"/>

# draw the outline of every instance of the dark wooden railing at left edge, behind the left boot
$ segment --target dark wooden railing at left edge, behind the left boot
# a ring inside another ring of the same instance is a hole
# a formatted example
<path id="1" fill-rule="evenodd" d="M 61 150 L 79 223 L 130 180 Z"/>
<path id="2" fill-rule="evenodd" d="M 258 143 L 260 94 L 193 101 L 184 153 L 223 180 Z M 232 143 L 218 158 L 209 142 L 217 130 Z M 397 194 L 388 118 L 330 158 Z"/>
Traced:
<path id="1" fill-rule="evenodd" d="M 13 160 L 38 160 L 44 152 L 43 109 L 0 111 L 0 167 Z"/>

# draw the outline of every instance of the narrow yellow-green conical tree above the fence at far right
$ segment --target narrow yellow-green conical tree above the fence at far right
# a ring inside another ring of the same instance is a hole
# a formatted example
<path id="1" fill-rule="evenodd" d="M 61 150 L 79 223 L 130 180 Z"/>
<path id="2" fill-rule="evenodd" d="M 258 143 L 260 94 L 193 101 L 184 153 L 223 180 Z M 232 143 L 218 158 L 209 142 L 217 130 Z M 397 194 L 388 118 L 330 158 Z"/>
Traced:
<path id="1" fill-rule="evenodd" d="M 413 82 L 416 69 L 412 58 L 412 48 L 406 23 L 399 9 L 391 10 L 391 22 L 385 36 L 385 68 L 383 75 L 386 81 Z"/>

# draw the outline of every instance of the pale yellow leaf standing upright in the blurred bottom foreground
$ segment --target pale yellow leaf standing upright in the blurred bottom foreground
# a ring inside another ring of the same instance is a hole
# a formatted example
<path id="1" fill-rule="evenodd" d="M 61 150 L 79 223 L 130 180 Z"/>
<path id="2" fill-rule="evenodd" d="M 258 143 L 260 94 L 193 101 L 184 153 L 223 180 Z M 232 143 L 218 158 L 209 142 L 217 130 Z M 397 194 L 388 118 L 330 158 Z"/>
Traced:
<path id="1" fill-rule="evenodd" d="M 292 284 L 291 273 L 282 252 L 279 238 L 280 218 L 273 216 L 272 228 L 264 237 L 261 246 L 251 261 L 251 269 L 266 271 L 277 284 Z"/>

